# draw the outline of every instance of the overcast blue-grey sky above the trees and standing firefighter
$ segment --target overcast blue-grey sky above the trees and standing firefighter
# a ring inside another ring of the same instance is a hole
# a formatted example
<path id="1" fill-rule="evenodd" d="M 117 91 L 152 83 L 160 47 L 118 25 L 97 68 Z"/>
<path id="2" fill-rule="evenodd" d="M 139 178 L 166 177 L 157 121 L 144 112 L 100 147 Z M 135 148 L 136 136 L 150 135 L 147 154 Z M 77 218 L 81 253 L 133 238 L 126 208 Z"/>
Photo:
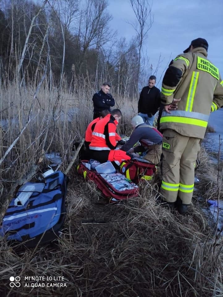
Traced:
<path id="1" fill-rule="evenodd" d="M 110 0 L 108 11 L 113 16 L 111 28 L 117 30 L 118 36 L 131 40 L 135 32 L 128 21 L 135 20 L 135 15 L 130 1 Z M 152 14 L 154 22 L 144 42 L 144 51 L 153 68 L 161 54 L 163 62 L 157 80 L 163 76 L 170 57 L 181 54 L 198 37 L 208 41 L 208 59 L 223 77 L 223 0 L 154 0 Z"/>

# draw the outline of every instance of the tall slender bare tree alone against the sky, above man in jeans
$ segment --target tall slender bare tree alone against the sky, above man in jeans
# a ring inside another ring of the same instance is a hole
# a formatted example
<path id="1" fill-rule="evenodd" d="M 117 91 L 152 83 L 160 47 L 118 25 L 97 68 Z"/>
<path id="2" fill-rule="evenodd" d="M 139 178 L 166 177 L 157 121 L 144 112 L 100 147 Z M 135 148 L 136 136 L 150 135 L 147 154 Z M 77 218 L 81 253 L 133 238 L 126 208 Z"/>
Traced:
<path id="1" fill-rule="evenodd" d="M 137 88 L 139 88 L 139 71 L 141 63 L 141 54 L 143 42 L 148 35 L 149 29 L 152 27 L 153 15 L 152 6 L 149 5 L 149 0 L 130 0 L 131 7 L 134 11 L 136 21 L 130 22 L 136 32 L 136 44 L 139 49 L 139 62 L 137 71 Z"/>

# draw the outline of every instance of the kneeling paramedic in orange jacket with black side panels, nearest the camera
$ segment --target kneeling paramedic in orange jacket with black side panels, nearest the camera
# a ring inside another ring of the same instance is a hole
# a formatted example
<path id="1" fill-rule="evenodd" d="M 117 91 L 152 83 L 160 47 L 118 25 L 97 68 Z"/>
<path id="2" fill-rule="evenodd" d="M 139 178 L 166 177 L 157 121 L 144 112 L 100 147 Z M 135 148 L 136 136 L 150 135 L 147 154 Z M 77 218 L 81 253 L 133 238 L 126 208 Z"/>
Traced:
<path id="1" fill-rule="evenodd" d="M 106 161 L 123 161 L 130 160 L 130 154 L 118 149 L 122 140 L 116 141 L 116 128 L 122 113 L 119 109 L 114 109 L 104 118 L 98 121 L 92 132 L 92 140 L 89 145 L 89 152 L 92 159 L 101 163 Z"/>

